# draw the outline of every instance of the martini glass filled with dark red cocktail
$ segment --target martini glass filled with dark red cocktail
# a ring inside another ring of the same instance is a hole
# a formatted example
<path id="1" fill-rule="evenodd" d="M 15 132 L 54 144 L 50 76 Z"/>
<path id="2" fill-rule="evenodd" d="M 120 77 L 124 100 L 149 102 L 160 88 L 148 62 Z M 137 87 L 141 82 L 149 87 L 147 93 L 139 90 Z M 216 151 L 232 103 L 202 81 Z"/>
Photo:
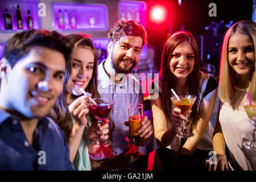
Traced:
<path id="1" fill-rule="evenodd" d="M 88 102 L 90 111 L 98 119 L 98 123 L 104 125 L 104 120 L 108 117 L 110 110 L 112 109 L 115 100 L 110 98 L 93 98 L 93 101 L 97 103 L 97 105 L 93 104 L 92 102 Z M 109 139 L 103 140 L 98 139 L 92 142 L 92 144 L 99 146 L 103 144 L 103 146 L 108 147 L 111 144 Z"/>

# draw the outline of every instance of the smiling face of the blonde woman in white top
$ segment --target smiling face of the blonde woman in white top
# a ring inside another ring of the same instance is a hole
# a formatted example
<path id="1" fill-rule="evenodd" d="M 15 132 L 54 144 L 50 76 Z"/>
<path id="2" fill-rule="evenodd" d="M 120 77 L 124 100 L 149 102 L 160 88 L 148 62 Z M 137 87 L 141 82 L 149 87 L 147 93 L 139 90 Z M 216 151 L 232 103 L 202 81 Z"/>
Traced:
<path id="1" fill-rule="evenodd" d="M 236 33 L 230 37 L 228 60 L 238 75 L 250 79 L 255 64 L 255 51 L 249 36 Z"/>

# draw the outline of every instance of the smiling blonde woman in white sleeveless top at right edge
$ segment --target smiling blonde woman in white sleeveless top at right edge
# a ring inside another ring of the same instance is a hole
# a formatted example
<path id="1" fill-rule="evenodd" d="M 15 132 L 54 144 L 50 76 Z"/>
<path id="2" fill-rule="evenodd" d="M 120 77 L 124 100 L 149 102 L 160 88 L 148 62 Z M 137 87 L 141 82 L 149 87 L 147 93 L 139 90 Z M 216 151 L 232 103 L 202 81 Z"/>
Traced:
<path id="1" fill-rule="evenodd" d="M 255 148 L 247 150 L 243 146 L 243 142 L 253 138 L 253 127 L 242 106 L 247 100 L 247 92 L 251 101 L 256 101 L 255 48 L 256 23 L 237 22 L 226 32 L 218 88 L 221 102 L 213 137 L 217 164 L 208 164 L 209 169 L 256 169 Z"/>

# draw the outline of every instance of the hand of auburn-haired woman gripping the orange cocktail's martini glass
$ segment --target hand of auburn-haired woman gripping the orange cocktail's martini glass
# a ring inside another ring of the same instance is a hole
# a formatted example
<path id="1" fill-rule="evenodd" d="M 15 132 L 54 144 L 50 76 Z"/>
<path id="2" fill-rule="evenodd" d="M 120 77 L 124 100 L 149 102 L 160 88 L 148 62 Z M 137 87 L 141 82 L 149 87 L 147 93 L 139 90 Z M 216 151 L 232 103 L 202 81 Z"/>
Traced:
<path id="1" fill-rule="evenodd" d="M 191 113 L 191 110 L 188 111 L 188 114 L 189 113 Z M 180 133 L 184 127 L 184 124 L 187 125 L 187 122 L 188 118 L 181 114 L 181 110 L 174 108 L 174 113 L 171 114 L 172 132 L 175 134 Z"/>

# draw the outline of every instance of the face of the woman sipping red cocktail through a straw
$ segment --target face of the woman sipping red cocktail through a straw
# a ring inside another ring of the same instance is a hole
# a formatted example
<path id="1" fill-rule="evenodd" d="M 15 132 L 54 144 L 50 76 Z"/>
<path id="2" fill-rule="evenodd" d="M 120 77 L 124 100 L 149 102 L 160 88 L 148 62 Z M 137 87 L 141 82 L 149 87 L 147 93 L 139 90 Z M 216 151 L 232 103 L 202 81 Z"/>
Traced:
<path id="1" fill-rule="evenodd" d="M 85 89 L 93 75 L 94 55 L 92 49 L 79 46 L 72 53 L 72 72 L 66 90 L 75 96 L 82 93 L 77 88 Z"/>

